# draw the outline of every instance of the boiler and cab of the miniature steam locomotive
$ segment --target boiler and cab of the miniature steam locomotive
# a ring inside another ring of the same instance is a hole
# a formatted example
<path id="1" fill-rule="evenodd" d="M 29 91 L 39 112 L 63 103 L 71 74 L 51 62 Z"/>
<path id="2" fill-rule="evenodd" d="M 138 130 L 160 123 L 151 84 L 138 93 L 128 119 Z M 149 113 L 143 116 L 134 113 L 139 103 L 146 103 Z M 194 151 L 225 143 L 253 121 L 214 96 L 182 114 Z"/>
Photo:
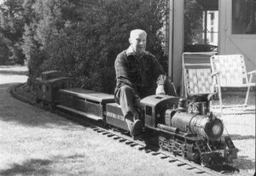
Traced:
<path id="1" fill-rule="evenodd" d="M 223 122 L 210 113 L 202 116 L 200 113 L 189 113 L 182 101 L 168 95 L 152 95 L 142 100 L 145 111 L 145 126 L 166 130 L 179 130 L 183 133 L 195 134 L 211 141 L 218 140 L 224 131 Z M 153 112 L 154 111 L 154 112 Z M 172 127 L 172 128 L 168 128 Z"/>

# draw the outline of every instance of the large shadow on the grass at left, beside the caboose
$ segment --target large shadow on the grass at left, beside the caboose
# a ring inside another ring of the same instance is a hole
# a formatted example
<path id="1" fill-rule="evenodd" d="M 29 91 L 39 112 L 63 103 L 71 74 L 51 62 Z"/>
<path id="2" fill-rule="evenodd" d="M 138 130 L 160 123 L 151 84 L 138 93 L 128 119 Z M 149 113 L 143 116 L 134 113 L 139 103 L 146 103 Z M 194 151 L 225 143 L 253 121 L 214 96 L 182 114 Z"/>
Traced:
<path id="1" fill-rule="evenodd" d="M 62 116 L 57 116 L 58 113 L 55 110 L 46 111 L 38 105 L 25 105 L 20 100 L 13 99 L 7 92 L 10 92 L 15 85 L 17 83 L 0 85 L 0 99 L 2 99 L 0 102 L 0 121 L 15 122 L 26 127 L 55 128 L 57 126 L 65 129 L 74 128 L 74 124 L 71 122 L 72 116 L 68 119 L 71 121 L 68 121 Z"/>

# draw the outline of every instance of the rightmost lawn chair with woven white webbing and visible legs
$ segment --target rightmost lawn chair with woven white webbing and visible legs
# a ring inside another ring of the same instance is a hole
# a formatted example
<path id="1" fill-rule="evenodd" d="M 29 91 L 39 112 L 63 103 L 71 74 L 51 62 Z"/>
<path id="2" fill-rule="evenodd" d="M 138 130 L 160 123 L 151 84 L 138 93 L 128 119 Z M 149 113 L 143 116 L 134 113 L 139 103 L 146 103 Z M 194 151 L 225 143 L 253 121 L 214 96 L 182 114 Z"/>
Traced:
<path id="1" fill-rule="evenodd" d="M 256 71 L 247 72 L 243 55 L 213 55 L 211 65 L 214 86 L 218 88 L 221 115 L 223 109 L 221 88 L 247 88 L 244 104 L 238 105 L 246 107 L 250 88 L 256 85 L 255 82 L 252 82 L 253 73 L 255 74 Z"/>

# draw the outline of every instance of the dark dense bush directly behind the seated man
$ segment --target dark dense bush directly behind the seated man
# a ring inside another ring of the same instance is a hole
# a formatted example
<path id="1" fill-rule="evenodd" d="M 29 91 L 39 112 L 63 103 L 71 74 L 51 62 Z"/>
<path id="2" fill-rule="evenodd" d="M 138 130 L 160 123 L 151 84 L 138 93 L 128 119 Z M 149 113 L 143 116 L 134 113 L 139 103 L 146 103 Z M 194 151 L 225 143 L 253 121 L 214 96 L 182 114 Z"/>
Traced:
<path id="1" fill-rule="evenodd" d="M 76 20 L 67 19 L 65 13 L 70 11 L 67 7 L 62 11 L 66 27 L 61 35 L 51 39 L 45 69 L 47 65 L 55 65 L 76 77 L 83 88 L 112 93 L 113 62 L 116 55 L 129 46 L 129 33 L 134 28 L 148 32 L 148 50 L 162 63 L 167 62 L 160 41 L 165 1 L 80 1 L 75 5 L 78 4 L 73 10 Z"/>

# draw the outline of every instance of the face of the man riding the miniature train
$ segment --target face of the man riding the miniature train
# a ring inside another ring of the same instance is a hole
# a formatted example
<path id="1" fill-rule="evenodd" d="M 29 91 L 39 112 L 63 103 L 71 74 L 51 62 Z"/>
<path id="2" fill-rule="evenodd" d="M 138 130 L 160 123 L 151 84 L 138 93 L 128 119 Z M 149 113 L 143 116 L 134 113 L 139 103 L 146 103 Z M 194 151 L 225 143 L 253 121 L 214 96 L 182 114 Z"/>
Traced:
<path id="1" fill-rule="evenodd" d="M 133 48 L 136 54 L 143 54 L 146 49 L 147 34 L 145 34 L 144 32 L 134 33 L 129 38 L 129 42 L 131 44 L 131 48 Z"/>

